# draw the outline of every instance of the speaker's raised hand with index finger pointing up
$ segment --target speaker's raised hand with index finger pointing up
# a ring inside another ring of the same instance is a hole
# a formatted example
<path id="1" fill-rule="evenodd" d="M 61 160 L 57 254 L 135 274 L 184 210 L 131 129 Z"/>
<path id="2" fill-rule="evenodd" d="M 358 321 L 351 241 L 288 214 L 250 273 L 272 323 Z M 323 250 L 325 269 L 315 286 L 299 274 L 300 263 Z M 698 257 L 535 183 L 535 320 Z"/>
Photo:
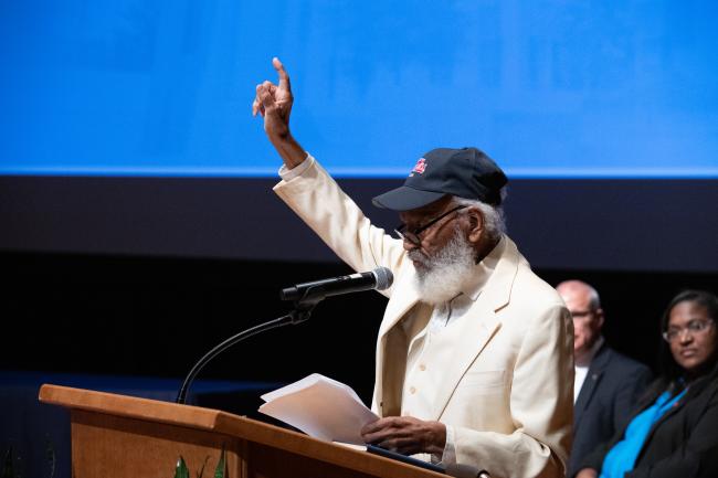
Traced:
<path id="1" fill-rule="evenodd" d="M 264 130 L 270 139 L 286 138 L 289 135 L 289 115 L 292 114 L 292 85 L 289 75 L 279 59 L 272 59 L 272 65 L 279 75 L 279 84 L 265 81 L 256 85 L 256 96 L 252 103 L 252 116 L 258 113 L 264 117 Z"/>

